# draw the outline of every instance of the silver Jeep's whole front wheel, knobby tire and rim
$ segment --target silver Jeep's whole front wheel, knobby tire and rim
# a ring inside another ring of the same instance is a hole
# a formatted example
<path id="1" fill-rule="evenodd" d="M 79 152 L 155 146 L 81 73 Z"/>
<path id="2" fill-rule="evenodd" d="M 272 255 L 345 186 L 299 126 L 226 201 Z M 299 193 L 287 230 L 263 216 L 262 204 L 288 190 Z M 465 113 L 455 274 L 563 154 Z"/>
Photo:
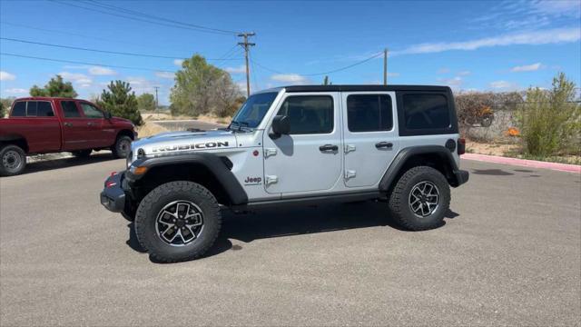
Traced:
<path id="1" fill-rule="evenodd" d="M 153 261 L 175 263 L 202 256 L 222 226 L 218 202 L 198 183 L 164 183 L 147 194 L 135 214 L 135 233 Z"/>

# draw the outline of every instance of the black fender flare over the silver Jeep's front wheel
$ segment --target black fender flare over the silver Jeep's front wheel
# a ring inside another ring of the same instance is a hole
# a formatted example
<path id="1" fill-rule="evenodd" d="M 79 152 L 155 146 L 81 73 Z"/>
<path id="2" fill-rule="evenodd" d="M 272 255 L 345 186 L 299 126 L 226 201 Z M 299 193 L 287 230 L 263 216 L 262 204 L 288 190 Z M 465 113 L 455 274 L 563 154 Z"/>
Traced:
<path id="1" fill-rule="evenodd" d="M 226 163 L 224 163 L 216 154 L 197 153 L 143 158 L 136 160 L 133 163 L 133 166 L 146 167 L 147 173 L 149 173 L 155 167 L 188 163 L 203 165 L 207 168 L 216 180 L 221 183 L 222 188 L 230 198 L 231 204 L 238 205 L 248 203 L 248 195 L 236 179 L 236 176 L 234 176 Z M 127 170 L 125 177 L 129 183 L 134 183 L 147 178 L 147 173 L 134 174 L 131 170 Z"/>

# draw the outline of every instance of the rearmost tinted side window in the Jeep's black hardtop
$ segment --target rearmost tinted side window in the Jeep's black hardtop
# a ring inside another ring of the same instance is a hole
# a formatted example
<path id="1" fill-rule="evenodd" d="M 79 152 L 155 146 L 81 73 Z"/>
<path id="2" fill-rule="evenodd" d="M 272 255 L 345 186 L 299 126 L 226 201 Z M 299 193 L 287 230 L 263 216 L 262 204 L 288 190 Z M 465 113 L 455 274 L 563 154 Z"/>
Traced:
<path id="1" fill-rule="evenodd" d="M 443 94 L 403 94 L 406 128 L 410 130 L 450 127 L 448 100 Z"/>

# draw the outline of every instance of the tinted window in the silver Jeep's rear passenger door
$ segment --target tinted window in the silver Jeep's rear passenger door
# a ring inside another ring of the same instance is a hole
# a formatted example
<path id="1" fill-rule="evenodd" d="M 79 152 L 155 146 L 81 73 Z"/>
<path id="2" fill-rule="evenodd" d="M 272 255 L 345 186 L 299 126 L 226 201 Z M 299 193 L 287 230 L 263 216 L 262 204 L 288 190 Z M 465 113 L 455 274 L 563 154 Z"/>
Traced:
<path id="1" fill-rule="evenodd" d="M 347 96 L 347 125 L 350 132 L 391 130 L 393 127 L 391 97 L 387 94 Z"/>

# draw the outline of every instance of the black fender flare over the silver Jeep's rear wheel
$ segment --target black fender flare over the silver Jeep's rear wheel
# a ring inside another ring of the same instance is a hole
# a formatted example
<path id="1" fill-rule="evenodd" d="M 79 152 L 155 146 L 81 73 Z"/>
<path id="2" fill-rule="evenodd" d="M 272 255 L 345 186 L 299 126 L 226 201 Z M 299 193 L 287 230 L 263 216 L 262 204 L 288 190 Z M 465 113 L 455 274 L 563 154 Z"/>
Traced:
<path id="1" fill-rule="evenodd" d="M 422 145 L 422 146 L 411 146 L 399 151 L 399 154 L 393 159 L 389 165 L 388 170 L 381 177 L 379 181 L 379 191 L 388 192 L 391 184 L 394 182 L 395 178 L 399 176 L 399 173 L 404 168 L 405 164 L 408 162 L 409 158 L 418 154 L 437 154 L 444 163 L 448 164 L 450 169 L 450 176 L 446 176 L 448 183 L 452 186 L 458 186 L 463 183 L 458 181 L 458 164 L 454 160 L 454 156 L 450 151 L 442 145 Z"/>

